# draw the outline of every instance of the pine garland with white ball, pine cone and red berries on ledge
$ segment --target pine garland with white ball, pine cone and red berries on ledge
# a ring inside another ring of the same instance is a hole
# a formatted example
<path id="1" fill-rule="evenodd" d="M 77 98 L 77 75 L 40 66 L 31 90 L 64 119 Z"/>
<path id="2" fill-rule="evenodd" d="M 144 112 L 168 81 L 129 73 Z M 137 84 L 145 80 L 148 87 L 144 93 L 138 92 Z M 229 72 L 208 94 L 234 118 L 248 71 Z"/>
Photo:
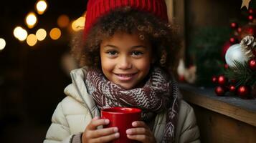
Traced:
<path id="1" fill-rule="evenodd" d="M 240 44 L 233 44 L 227 49 L 225 59 L 227 68 L 224 75 L 213 77 L 219 85 L 215 88 L 217 95 L 226 92 L 242 98 L 256 97 L 256 41 L 253 36 L 245 36 Z"/>

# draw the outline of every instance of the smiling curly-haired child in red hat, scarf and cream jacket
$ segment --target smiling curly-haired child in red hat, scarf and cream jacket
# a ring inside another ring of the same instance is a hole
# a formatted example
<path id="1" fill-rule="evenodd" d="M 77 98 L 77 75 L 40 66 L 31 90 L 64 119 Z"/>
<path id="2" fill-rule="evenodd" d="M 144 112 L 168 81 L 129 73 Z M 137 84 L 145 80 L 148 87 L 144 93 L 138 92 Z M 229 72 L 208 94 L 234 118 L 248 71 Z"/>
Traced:
<path id="1" fill-rule="evenodd" d="M 47 142 L 112 142 L 117 127 L 102 129 L 100 109 L 137 107 L 142 121 L 127 137 L 143 143 L 199 142 L 193 109 L 181 99 L 171 71 L 179 40 L 168 24 L 164 0 L 89 0 L 83 34 L 72 54 L 67 97 L 58 104 Z"/>

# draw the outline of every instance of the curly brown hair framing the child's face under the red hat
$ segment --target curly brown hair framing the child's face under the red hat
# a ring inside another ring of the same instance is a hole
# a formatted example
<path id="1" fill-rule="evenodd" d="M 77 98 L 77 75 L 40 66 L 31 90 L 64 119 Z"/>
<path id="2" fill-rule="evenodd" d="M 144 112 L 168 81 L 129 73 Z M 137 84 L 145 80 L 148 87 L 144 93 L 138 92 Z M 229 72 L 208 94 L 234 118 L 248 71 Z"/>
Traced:
<path id="1" fill-rule="evenodd" d="M 176 26 L 159 20 L 153 14 L 137 11 L 130 7 L 115 9 L 102 16 L 83 39 L 82 32 L 72 39 L 71 54 L 80 66 L 100 65 L 100 44 L 103 39 L 112 37 L 115 32 L 138 34 L 138 39 L 151 42 L 154 65 L 167 71 L 175 70 L 177 53 L 180 49 Z"/>

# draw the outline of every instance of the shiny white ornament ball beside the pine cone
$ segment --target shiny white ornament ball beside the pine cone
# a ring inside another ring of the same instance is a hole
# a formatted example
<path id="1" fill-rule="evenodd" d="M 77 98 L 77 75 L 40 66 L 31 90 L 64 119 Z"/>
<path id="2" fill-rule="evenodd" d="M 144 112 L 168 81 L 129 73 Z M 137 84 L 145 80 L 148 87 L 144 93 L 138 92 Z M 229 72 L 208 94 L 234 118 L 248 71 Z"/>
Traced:
<path id="1" fill-rule="evenodd" d="M 248 57 L 242 51 L 242 47 L 240 44 L 233 44 L 227 49 L 225 54 L 226 62 L 229 66 L 234 66 L 234 60 L 244 62 L 248 61 Z"/>

